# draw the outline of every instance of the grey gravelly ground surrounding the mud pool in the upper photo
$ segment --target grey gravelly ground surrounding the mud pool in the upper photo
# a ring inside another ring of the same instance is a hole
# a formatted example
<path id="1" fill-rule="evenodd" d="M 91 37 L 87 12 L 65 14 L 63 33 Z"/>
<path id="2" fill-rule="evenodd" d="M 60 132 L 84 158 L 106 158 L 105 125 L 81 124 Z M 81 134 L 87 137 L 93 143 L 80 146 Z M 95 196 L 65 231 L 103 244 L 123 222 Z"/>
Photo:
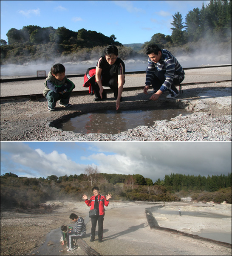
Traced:
<path id="1" fill-rule="evenodd" d="M 231 72 L 231 71 L 230 71 Z M 127 79 L 138 79 L 135 75 Z M 141 75 L 144 76 L 144 75 Z M 209 77 L 209 81 L 210 81 Z M 128 81 L 129 80 L 129 81 Z M 39 141 L 92 141 L 92 140 L 170 140 L 170 141 L 230 141 L 231 140 L 231 81 L 183 86 L 184 93 L 178 99 L 166 99 L 163 94 L 157 102 L 151 102 L 143 91 L 123 92 L 120 109 L 136 108 L 184 108 L 190 115 L 180 115 L 171 120 L 155 121 L 151 126 L 138 126 L 119 134 L 80 134 L 62 131 L 54 126 L 80 113 L 101 109 L 115 110 L 113 94 L 103 102 L 94 102 L 94 96 L 71 97 L 71 108 L 57 107 L 47 110 L 44 98 L 1 102 L 1 140 Z"/>

